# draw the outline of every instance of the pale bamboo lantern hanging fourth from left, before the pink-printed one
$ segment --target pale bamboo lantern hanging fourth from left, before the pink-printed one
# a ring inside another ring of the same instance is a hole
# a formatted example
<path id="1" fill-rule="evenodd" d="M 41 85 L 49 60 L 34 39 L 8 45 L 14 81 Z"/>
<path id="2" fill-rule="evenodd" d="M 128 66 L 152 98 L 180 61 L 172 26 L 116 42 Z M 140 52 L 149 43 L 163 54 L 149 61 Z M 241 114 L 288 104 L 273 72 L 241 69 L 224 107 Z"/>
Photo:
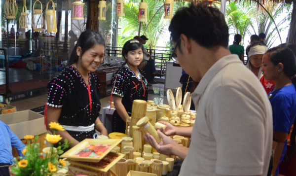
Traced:
<path id="1" fill-rule="evenodd" d="M 52 9 L 48 10 L 48 4 L 52 3 Z M 47 25 L 47 32 L 51 33 L 54 32 L 56 33 L 57 30 L 57 23 L 56 23 L 56 14 L 55 14 L 55 8 L 54 8 L 54 2 L 52 0 L 49 0 L 46 4 L 46 10 L 45 10 L 45 19 L 46 19 L 46 25 Z"/>

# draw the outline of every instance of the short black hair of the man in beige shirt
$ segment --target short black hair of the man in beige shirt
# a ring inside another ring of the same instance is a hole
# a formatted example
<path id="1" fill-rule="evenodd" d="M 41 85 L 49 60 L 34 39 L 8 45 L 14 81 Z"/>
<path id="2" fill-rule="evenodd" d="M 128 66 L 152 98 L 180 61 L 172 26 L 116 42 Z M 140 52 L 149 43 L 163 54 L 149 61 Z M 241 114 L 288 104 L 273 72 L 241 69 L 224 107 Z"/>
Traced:
<path id="1" fill-rule="evenodd" d="M 169 31 L 174 42 L 184 34 L 206 48 L 228 47 L 229 34 L 224 15 L 204 2 L 180 8 L 171 21 Z"/>

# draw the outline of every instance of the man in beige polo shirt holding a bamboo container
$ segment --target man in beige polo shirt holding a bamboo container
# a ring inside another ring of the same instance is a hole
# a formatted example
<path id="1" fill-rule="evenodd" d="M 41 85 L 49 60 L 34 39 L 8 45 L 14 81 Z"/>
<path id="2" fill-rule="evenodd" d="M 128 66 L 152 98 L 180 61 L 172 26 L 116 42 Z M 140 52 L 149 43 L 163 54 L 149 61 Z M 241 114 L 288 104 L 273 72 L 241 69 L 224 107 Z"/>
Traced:
<path id="1" fill-rule="evenodd" d="M 206 4 L 191 4 L 174 15 L 169 31 L 172 55 L 194 81 L 194 127 L 169 123 L 158 130 L 160 153 L 184 159 L 180 176 L 266 176 L 272 147 L 272 111 L 257 77 L 228 46 L 223 14 Z M 189 148 L 169 135 L 191 137 Z"/>

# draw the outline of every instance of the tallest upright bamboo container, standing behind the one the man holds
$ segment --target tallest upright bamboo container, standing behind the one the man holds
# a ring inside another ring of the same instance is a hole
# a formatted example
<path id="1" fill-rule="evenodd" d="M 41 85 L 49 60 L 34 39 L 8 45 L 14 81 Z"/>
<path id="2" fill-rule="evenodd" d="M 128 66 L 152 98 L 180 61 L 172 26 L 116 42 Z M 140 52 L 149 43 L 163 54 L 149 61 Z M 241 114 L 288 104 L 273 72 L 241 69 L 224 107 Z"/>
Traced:
<path id="1" fill-rule="evenodd" d="M 134 100 L 132 106 L 132 118 L 130 127 L 137 124 L 139 119 L 146 115 L 147 102 L 145 100 Z M 133 128 L 130 128 L 130 136 L 133 137 Z"/>

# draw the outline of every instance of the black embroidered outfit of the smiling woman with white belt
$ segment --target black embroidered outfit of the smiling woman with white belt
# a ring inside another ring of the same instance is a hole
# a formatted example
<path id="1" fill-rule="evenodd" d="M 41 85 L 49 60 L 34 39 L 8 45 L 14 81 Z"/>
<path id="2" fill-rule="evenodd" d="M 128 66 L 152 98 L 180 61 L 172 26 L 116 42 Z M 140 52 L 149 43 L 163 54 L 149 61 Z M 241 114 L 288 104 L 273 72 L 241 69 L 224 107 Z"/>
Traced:
<path id="1" fill-rule="evenodd" d="M 101 103 L 99 96 L 100 83 L 94 72 L 89 73 L 89 86 L 91 105 L 88 89 L 83 78 L 73 66 L 67 66 L 47 85 L 47 105 L 62 108 L 59 123 L 69 126 L 90 126 L 99 117 Z M 95 131 L 73 132 L 68 131 L 77 141 L 93 138 Z"/>

